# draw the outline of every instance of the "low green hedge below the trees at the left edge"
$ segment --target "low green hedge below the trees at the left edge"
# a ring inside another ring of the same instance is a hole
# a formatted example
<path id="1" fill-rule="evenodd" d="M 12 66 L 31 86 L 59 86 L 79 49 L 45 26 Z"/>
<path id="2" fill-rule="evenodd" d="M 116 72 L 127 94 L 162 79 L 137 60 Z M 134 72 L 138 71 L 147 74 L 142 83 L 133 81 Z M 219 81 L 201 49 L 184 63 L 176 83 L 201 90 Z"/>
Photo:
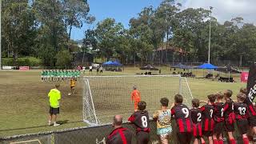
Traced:
<path id="1" fill-rule="evenodd" d="M 18 58 L 17 66 L 41 66 L 41 59 L 34 57 Z M 2 58 L 2 66 L 14 66 L 13 58 Z"/>

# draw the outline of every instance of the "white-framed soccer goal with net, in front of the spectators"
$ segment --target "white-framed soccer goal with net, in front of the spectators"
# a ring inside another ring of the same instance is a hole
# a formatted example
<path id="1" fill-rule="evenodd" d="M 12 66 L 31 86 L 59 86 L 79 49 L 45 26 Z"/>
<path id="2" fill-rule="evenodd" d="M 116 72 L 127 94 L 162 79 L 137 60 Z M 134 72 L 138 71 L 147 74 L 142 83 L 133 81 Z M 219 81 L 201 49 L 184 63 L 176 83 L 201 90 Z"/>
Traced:
<path id="1" fill-rule="evenodd" d="M 186 78 L 180 75 L 126 75 L 84 77 L 83 121 L 89 124 L 112 122 L 115 114 L 122 114 L 126 121 L 134 112 L 130 100 L 133 86 L 147 103 L 150 116 L 160 108 L 160 98 L 169 98 L 170 105 L 175 94 L 182 94 L 184 103 L 190 106 L 192 94 Z"/>

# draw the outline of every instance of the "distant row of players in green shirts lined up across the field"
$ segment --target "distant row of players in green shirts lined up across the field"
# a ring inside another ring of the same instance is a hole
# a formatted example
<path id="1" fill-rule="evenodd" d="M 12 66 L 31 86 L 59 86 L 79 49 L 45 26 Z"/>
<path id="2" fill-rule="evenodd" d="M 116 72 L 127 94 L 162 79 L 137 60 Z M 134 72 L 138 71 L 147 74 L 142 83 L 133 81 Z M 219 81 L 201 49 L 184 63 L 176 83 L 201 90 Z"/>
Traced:
<path id="1" fill-rule="evenodd" d="M 80 75 L 80 70 L 42 70 L 41 80 L 42 82 L 64 82 L 70 78 L 77 80 Z"/>

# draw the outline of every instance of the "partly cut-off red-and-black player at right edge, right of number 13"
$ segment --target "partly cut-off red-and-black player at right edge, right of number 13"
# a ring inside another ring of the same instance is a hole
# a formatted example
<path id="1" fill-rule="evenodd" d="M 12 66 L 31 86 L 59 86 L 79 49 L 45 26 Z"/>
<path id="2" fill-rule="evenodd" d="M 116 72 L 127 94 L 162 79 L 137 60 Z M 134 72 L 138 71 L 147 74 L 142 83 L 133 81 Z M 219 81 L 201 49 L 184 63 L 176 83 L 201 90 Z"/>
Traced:
<path id="1" fill-rule="evenodd" d="M 246 88 L 241 88 L 240 92 L 243 94 L 248 93 Z M 249 122 L 249 125 L 253 128 L 254 135 L 256 135 L 256 110 L 253 104 L 254 97 L 253 95 L 249 96 L 249 94 L 246 96 L 244 103 L 246 103 L 246 105 L 248 106 L 248 112 L 250 114 L 250 117 L 247 118 L 247 120 Z"/>

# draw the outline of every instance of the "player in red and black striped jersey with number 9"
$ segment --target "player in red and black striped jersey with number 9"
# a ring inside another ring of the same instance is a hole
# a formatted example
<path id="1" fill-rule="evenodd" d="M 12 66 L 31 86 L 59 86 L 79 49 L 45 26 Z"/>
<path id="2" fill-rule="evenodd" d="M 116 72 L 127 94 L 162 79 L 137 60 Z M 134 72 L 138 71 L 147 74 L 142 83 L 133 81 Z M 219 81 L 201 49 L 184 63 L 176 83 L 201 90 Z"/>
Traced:
<path id="1" fill-rule="evenodd" d="M 189 108 L 182 104 L 182 95 L 176 94 L 174 98 L 174 107 L 171 109 L 171 115 L 174 115 L 178 127 L 178 142 L 187 144 L 191 141 L 192 119 Z"/>

